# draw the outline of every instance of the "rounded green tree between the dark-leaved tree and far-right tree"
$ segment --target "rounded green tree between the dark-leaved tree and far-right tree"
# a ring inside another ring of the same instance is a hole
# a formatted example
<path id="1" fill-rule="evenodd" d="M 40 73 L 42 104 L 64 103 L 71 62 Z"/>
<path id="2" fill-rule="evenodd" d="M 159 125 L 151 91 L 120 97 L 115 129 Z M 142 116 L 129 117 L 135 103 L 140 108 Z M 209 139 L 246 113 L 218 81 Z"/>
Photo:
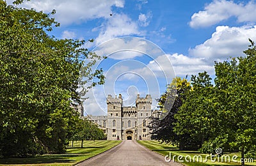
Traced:
<path id="1" fill-rule="evenodd" d="M 205 140 L 214 133 L 214 109 L 212 107 L 212 83 L 207 72 L 191 77 L 191 91 L 175 114 L 174 132 L 177 135 L 187 135 L 186 149 L 198 149 Z"/>

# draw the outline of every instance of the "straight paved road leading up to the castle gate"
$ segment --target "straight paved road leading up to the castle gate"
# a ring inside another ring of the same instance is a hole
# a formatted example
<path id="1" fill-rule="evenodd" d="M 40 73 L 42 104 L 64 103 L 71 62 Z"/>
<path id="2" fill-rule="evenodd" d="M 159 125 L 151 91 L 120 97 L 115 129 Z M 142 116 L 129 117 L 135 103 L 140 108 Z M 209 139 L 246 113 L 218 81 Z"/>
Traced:
<path id="1" fill-rule="evenodd" d="M 165 162 L 164 156 L 141 146 L 135 140 L 123 140 L 121 144 L 109 151 L 85 160 L 81 165 L 180 165 Z"/>

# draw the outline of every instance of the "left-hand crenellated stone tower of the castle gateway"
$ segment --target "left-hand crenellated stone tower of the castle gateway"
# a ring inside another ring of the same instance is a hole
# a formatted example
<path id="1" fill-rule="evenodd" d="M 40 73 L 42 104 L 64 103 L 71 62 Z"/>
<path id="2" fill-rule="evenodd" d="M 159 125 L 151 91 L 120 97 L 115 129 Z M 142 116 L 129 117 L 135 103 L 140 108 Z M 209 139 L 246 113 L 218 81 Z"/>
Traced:
<path id="1" fill-rule="evenodd" d="M 113 98 L 108 94 L 108 140 L 122 140 L 122 95 Z"/>

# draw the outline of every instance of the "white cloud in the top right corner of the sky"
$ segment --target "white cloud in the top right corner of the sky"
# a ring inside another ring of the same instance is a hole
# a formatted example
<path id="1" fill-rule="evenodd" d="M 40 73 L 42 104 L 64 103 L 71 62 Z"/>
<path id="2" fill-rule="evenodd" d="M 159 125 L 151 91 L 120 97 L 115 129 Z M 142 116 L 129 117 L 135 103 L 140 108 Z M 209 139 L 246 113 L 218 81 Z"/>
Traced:
<path id="1" fill-rule="evenodd" d="M 212 26 L 230 17 L 236 17 L 237 22 L 255 22 L 256 4 L 250 1 L 247 4 L 236 4 L 234 1 L 214 0 L 205 6 L 203 11 L 194 13 L 189 26 L 207 27 Z"/>

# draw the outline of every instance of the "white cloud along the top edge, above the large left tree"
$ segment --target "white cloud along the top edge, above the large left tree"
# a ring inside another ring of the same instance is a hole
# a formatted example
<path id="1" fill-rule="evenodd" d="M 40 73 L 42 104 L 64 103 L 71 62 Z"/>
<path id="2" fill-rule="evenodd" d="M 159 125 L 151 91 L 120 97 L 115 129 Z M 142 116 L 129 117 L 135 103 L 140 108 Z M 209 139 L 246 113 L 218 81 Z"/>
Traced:
<path id="1" fill-rule="evenodd" d="M 8 0 L 8 4 L 12 4 L 13 0 Z M 62 24 L 79 23 L 86 20 L 97 18 L 109 18 L 109 13 L 112 13 L 111 7 L 124 8 L 124 0 L 33 0 L 24 1 L 20 6 L 24 8 L 34 8 L 37 11 L 50 13 L 56 10 L 54 18 Z"/>

